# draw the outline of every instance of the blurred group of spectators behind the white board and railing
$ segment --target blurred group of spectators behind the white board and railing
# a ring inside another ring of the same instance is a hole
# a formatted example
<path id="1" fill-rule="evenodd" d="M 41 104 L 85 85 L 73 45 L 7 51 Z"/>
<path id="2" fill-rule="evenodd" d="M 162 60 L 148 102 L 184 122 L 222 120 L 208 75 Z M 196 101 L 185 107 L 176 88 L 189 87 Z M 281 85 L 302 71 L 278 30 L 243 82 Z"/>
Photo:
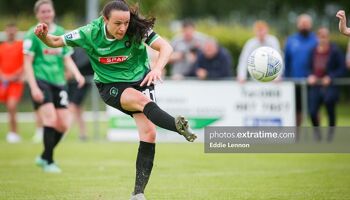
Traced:
<path id="1" fill-rule="evenodd" d="M 330 41 L 329 30 L 318 27 L 313 32 L 313 20 L 310 15 L 301 14 L 296 21 L 297 32 L 290 35 L 281 50 L 279 40 L 269 34 L 269 25 L 262 20 L 253 25 L 255 37 L 249 39 L 241 51 L 237 64 L 237 80 L 244 83 L 248 79 L 247 66 L 249 55 L 262 46 L 272 47 L 284 56 L 283 78 L 306 79 L 308 87 L 308 108 L 312 125 L 320 126 L 319 111 L 325 105 L 330 127 L 336 126 L 336 103 L 339 90 L 333 80 L 346 73 L 350 68 L 350 43 L 347 56 Z M 232 35 L 234 37 L 234 34 Z M 232 58 L 224 47 L 195 29 L 195 25 L 185 21 L 182 34 L 172 40 L 174 54 L 171 58 L 171 78 L 197 77 L 200 80 L 232 77 Z M 297 126 L 302 122 L 302 91 L 296 85 Z"/>

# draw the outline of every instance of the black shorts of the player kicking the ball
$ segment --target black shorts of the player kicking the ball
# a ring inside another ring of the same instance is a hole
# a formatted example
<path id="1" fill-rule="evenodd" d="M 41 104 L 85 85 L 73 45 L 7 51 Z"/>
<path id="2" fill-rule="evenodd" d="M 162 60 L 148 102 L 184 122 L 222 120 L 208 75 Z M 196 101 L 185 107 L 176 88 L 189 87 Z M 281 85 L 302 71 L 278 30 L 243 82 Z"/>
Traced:
<path id="1" fill-rule="evenodd" d="M 142 80 L 137 82 L 131 82 L 131 83 L 128 83 L 128 82 L 97 83 L 96 82 L 96 86 L 98 88 L 101 98 L 107 105 L 113 108 L 116 108 L 125 114 L 132 116 L 135 113 L 141 113 L 141 111 L 128 111 L 122 108 L 120 104 L 120 97 L 125 89 L 134 88 L 142 92 L 143 94 L 145 94 L 152 101 L 154 102 L 156 101 L 154 85 L 153 84 L 150 86 L 144 85 L 143 87 L 140 87 Z"/>

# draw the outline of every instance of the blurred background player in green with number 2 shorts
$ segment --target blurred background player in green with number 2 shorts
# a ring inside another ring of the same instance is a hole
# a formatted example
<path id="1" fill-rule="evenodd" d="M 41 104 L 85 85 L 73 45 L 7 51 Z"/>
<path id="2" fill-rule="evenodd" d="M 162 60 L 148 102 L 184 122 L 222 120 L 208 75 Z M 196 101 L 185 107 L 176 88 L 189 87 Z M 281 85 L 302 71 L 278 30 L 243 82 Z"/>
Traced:
<path id="1" fill-rule="evenodd" d="M 64 34 L 64 29 L 53 22 L 55 11 L 50 0 L 38 0 L 34 12 L 39 23 L 45 24 L 51 34 Z M 34 28 L 27 32 L 23 47 L 24 68 L 34 108 L 44 125 L 44 152 L 36 158 L 36 164 L 45 172 L 59 173 L 61 169 L 54 163 L 53 151 L 70 121 L 64 66 L 72 71 L 80 86 L 84 85 L 85 79 L 70 57 L 71 48 L 48 47 L 35 36 Z"/>

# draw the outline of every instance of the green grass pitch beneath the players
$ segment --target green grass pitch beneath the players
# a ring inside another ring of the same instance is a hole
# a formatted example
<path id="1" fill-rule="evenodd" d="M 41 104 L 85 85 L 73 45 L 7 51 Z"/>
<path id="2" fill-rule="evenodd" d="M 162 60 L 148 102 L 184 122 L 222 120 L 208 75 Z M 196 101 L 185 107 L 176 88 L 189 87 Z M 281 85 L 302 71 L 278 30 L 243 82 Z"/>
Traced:
<path id="1" fill-rule="evenodd" d="M 77 141 L 55 152 L 63 173 L 34 165 L 41 144 L 0 140 L 1 200 L 127 200 L 133 190 L 138 144 Z M 29 130 L 29 131 L 28 131 Z M 27 132 L 26 132 L 27 131 Z M 205 154 L 203 144 L 160 143 L 146 189 L 150 200 L 350 199 L 350 154 Z"/>

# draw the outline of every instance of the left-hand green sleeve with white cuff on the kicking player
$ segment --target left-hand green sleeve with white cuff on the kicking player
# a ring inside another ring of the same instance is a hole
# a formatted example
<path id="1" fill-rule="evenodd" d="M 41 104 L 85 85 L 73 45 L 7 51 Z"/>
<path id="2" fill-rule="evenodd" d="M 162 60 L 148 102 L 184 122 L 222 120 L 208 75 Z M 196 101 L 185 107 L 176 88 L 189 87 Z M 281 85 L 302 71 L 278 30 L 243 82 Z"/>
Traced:
<path id="1" fill-rule="evenodd" d="M 89 46 L 89 41 L 91 41 L 89 39 L 91 37 L 91 31 L 92 27 L 90 25 L 86 25 L 66 33 L 61 37 L 66 46 L 82 47 L 86 49 Z"/>

